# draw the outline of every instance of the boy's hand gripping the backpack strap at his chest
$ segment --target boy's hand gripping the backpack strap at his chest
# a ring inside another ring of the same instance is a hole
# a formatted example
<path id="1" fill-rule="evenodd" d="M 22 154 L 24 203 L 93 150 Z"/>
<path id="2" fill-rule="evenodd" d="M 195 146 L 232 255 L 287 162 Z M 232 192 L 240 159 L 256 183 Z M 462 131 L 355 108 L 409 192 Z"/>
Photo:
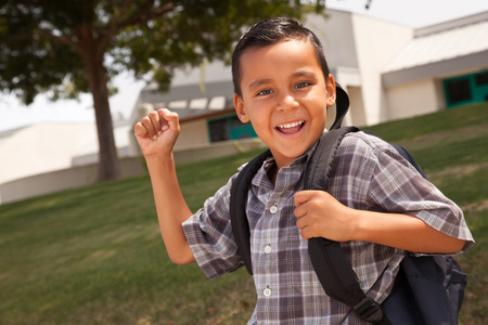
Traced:
<path id="1" fill-rule="evenodd" d="M 336 242 L 351 240 L 352 209 L 324 191 L 300 191 L 295 194 L 296 225 L 301 237 L 324 237 Z"/>

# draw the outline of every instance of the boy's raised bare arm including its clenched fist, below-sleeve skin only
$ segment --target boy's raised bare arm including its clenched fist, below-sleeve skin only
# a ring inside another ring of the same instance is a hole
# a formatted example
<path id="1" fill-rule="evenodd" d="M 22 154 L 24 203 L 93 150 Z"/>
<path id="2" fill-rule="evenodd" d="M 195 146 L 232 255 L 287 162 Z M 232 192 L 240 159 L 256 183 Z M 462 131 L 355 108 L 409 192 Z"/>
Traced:
<path id="1" fill-rule="evenodd" d="M 192 216 L 175 169 L 172 147 L 180 126 L 178 115 L 168 109 L 151 112 L 134 126 L 134 134 L 147 164 L 159 230 L 172 262 L 194 262 L 182 223 Z"/>

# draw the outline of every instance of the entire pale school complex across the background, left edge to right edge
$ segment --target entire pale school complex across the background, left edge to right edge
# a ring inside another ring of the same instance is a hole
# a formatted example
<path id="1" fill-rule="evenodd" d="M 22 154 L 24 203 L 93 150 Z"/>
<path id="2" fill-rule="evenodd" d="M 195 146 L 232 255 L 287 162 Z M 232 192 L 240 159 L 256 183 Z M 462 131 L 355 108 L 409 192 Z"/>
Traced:
<path id="1" fill-rule="evenodd" d="M 414 29 L 328 10 L 328 18 L 311 14 L 305 25 L 321 39 L 332 74 L 349 93 L 347 125 L 487 101 L 488 12 Z M 221 62 L 178 70 L 167 93 L 145 87 L 129 120 L 115 125 L 123 174 L 143 171 L 132 126 L 160 107 L 180 116 L 177 162 L 262 145 L 251 125 L 236 118 L 232 96 L 230 67 Z M 43 123 L 1 132 L 0 204 L 92 183 L 97 160 L 93 125 Z"/>

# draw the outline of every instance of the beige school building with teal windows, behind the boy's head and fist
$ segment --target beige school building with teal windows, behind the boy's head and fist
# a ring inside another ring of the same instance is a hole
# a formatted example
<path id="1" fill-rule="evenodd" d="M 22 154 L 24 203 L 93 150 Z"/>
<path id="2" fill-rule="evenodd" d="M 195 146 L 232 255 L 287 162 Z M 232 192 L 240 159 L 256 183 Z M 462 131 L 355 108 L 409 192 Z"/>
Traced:
<path id="1" fill-rule="evenodd" d="M 488 98 L 488 12 L 425 28 L 328 10 L 305 25 L 321 39 L 335 79 L 349 93 L 345 122 L 370 126 Z M 233 110 L 230 67 L 179 72 L 169 92 L 144 88 L 131 121 L 167 107 L 180 116 L 176 150 L 255 136 Z M 132 141 L 131 153 L 137 153 Z"/>

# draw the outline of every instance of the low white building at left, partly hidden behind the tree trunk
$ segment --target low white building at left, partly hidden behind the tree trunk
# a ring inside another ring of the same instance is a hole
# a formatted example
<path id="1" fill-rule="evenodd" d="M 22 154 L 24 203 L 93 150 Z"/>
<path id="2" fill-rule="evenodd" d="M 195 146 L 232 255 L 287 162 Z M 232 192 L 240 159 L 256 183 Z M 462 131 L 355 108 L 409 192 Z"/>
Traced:
<path id="1" fill-rule="evenodd" d="M 123 177 L 144 172 L 128 157 L 128 121 L 116 121 L 114 135 Z M 0 204 L 92 184 L 97 180 L 94 123 L 36 123 L 0 132 Z"/>

